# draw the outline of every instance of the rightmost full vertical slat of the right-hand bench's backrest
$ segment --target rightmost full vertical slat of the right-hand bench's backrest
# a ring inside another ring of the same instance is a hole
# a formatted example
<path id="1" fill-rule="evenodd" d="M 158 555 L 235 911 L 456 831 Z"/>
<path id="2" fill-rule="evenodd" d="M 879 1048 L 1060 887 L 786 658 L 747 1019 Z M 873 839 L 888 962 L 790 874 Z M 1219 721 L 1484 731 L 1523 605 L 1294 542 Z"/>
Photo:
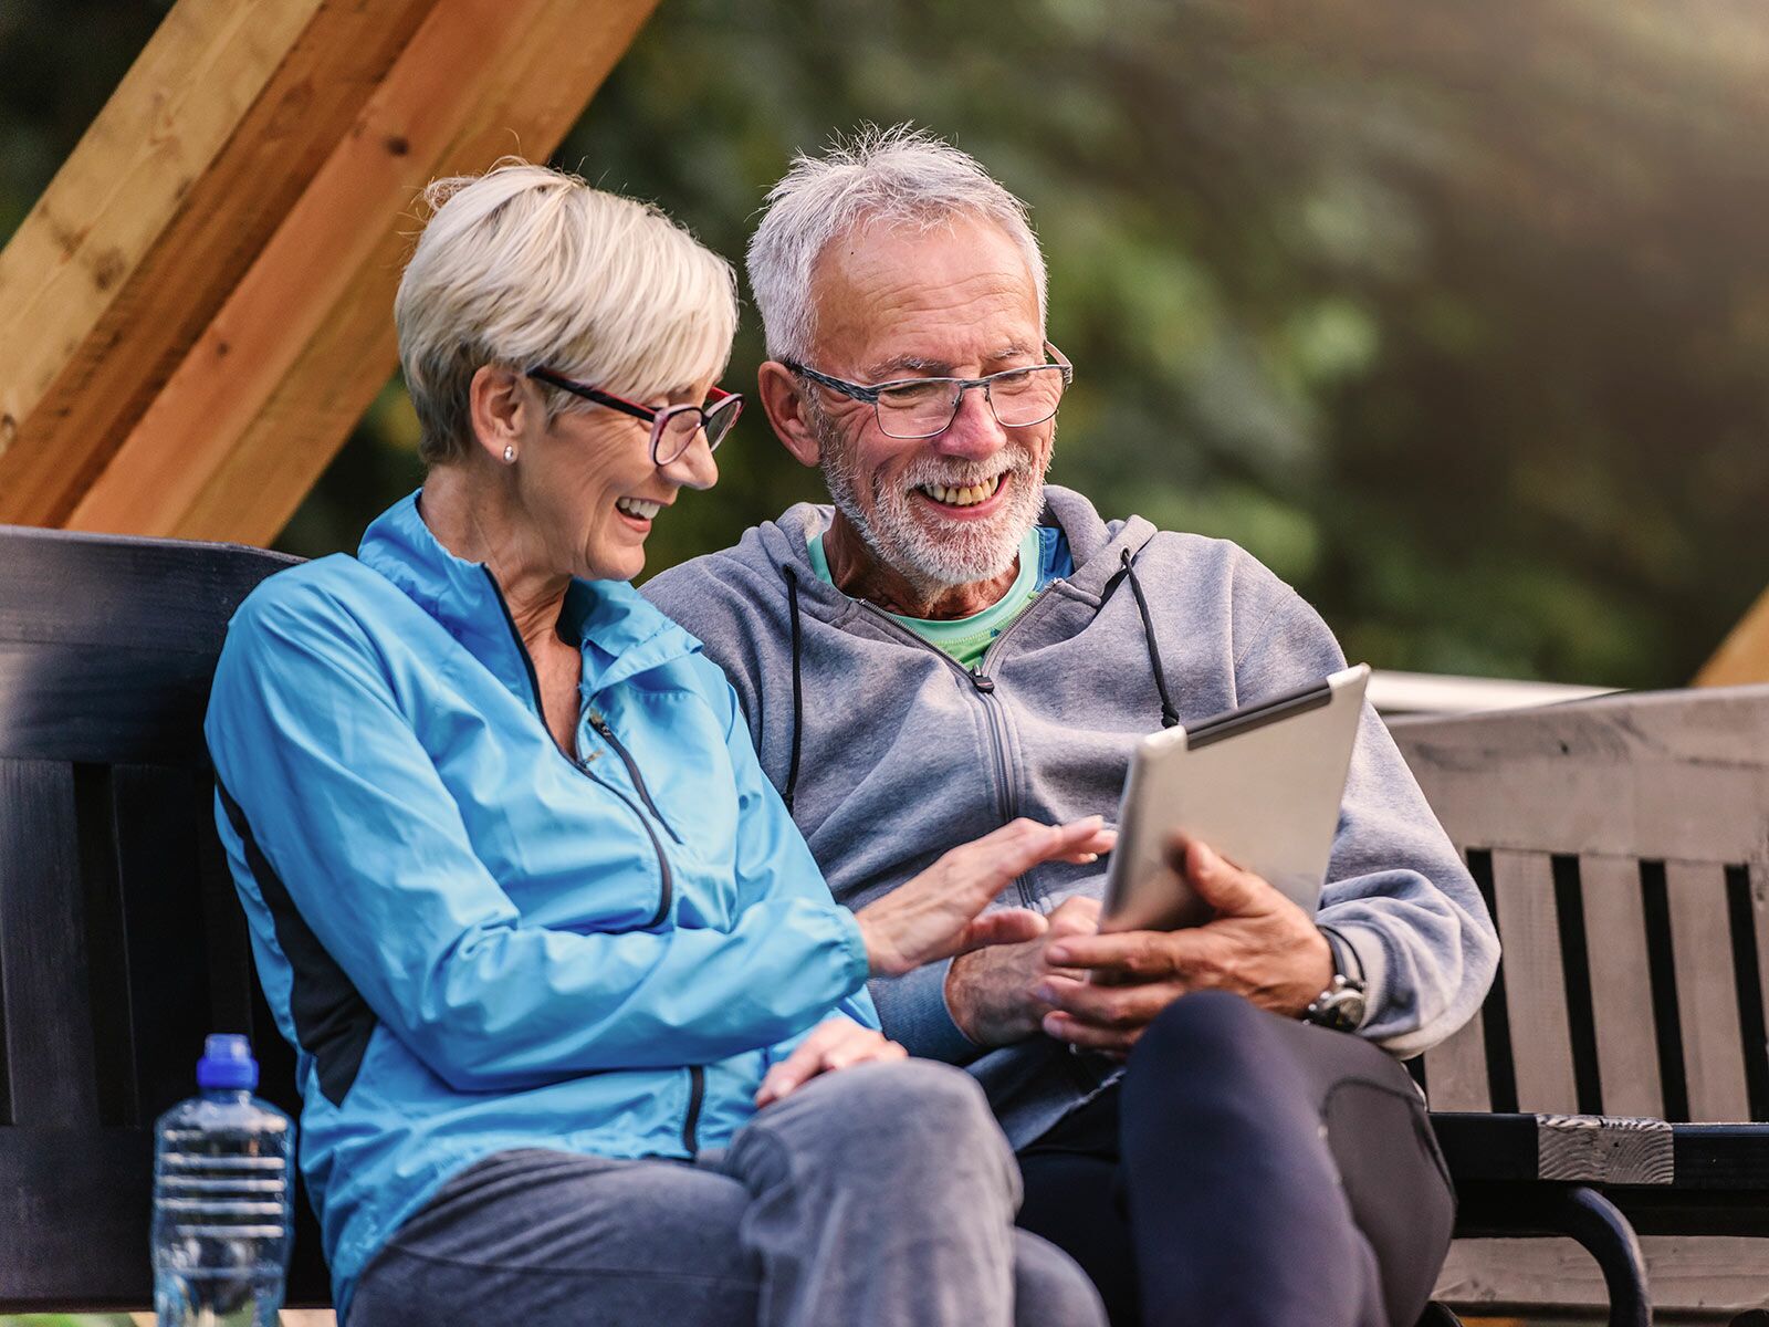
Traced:
<path id="1" fill-rule="evenodd" d="M 1689 1118 L 1748 1122 L 1725 872 L 1709 863 L 1666 862 L 1665 886 Z"/>

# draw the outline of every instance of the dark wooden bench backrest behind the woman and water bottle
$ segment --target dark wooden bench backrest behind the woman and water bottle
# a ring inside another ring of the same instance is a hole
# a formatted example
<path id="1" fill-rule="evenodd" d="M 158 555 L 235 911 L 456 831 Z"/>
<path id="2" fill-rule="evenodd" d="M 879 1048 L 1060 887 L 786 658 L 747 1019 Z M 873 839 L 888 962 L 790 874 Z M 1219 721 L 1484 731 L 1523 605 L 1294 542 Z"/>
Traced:
<path id="1" fill-rule="evenodd" d="M 234 607 L 292 561 L 0 525 L 0 1311 L 152 1302 L 150 1125 L 203 1033 L 295 1106 L 202 738 Z M 290 1300 L 324 1302 L 297 1212 Z"/>

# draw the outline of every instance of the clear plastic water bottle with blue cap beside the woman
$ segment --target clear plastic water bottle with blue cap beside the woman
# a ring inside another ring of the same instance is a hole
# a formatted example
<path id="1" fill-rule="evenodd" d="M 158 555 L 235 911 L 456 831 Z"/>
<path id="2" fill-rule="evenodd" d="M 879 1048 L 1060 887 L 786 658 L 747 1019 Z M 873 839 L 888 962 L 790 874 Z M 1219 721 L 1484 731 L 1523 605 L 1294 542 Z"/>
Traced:
<path id="1" fill-rule="evenodd" d="M 209 1037 L 202 1095 L 154 1125 L 154 1309 L 159 1327 L 276 1327 L 288 1274 L 295 1125 L 251 1095 L 258 1062 Z"/>

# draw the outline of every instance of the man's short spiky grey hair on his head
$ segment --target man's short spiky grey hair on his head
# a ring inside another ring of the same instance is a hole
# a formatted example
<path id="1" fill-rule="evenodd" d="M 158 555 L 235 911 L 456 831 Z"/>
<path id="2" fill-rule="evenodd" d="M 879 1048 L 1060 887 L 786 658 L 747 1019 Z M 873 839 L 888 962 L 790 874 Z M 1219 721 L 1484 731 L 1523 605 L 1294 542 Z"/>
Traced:
<path id="1" fill-rule="evenodd" d="M 750 239 L 750 290 L 762 315 L 768 354 L 805 359 L 816 334 L 810 278 L 830 241 L 860 225 L 886 223 L 930 230 L 955 216 L 999 225 L 1026 255 L 1038 290 L 1044 326 L 1047 278 L 1026 203 L 1001 188 L 968 152 L 899 124 L 865 127 L 837 140 L 821 157 L 793 157 L 793 168 L 768 191 L 768 214 Z"/>

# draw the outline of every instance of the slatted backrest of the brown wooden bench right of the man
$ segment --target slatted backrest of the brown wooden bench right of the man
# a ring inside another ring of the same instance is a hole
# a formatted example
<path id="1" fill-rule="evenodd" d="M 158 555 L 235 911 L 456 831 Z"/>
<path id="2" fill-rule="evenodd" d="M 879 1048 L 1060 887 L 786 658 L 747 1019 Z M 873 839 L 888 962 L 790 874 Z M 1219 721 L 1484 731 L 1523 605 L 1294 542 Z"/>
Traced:
<path id="1" fill-rule="evenodd" d="M 1392 731 L 1505 948 L 1433 1109 L 1769 1120 L 1769 687 Z"/>

